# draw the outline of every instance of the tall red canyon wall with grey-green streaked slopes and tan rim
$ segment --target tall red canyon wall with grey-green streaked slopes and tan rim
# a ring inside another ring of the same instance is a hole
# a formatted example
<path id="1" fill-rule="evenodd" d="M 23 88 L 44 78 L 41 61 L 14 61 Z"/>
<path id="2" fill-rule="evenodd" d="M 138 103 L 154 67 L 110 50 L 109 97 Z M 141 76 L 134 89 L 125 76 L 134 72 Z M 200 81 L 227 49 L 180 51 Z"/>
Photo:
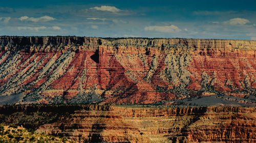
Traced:
<path id="1" fill-rule="evenodd" d="M 255 106 L 256 41 L 0 37 L 0 50 L 2 104 L 225 95 Z"/>

